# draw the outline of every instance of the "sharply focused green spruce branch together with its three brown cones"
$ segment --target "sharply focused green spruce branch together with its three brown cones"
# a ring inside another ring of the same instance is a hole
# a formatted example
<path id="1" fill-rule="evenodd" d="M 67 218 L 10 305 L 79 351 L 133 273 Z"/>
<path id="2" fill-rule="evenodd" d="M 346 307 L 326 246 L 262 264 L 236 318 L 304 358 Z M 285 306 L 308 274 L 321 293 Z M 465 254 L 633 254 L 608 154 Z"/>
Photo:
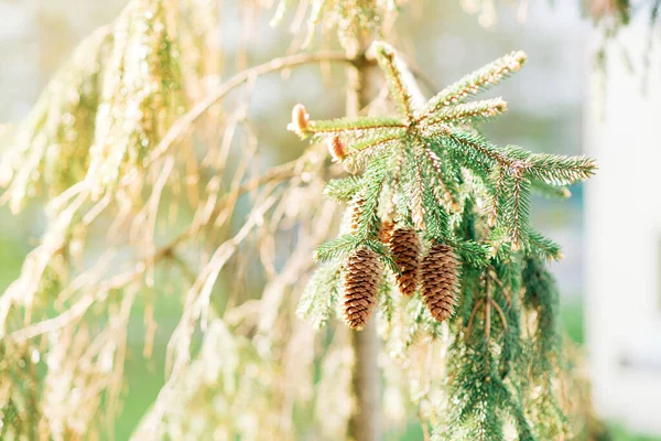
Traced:
<path id="1" fill-rule="evenodd" d="M 389 329 L 401 330 L 398 353 L 413 351 L 422 331 L 431 338 L 453 331 L 446 367 L 453 400 L 445 405 L 446 426 L 435 426 L 434 437 L 501 439 L 510 420 L 520 439 L 538 439 L 551 431 L 544 432 L 546 423 L 531 412 L 527 396 L 540 386 L 540 409 L 556 406 L 549 386 L 556 365 L 541 367 L 532 381 L 522 366 L 528 366 L 528 347 L 534 347 L 535 357 L 556 352 L 554 287 L 541 268 L 562 254 L 531 228 L 531 194 L 566 196 L 564 185 L 589 178 L 595 163 L 496 146 L 475 129 L 507 105 L 501 98 L 467 98 L 518 71 L 521 52 L 464 77 L 424 106 L 394 50 L 377 43 L 375 52 L 398 115 L 292 121 L 292 128 L 304 127 L 293 130 L 301 138 L 328 142 L 334 161 L 346 170 L 362 171 L 328 183 L 326 194 L 354 212 L 353 228 L 317 248 L 315 257 L 370 268 L 348 284 L 351 291 L 357 284 L 368 290 L 369 300 L 367 291 L 345 297 L 345 315 L 350 326 L 361 326 L 371 308 L 382 309 Z M 393 311 L 392 293 L 378 289 L 382 280 L 394 280 L 409 297 L 401 312 Z M 319 295 L 319 302 L 326 298 Z M 529 314 L 539 316 L 531 342 L 523 341 L 522 330 Z"/>

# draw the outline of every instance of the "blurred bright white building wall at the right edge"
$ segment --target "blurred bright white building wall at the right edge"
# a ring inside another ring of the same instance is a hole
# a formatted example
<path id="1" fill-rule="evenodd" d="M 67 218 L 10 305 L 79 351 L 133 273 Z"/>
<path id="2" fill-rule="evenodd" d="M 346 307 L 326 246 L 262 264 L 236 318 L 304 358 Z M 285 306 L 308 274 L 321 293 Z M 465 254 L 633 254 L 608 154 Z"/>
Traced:
<path id="1" fill-rule="evenodd" d="M 589 82 L 585 311 L 598 411 L 661 434 L 661 51 L 646 74 L 648 22 L 641 12 L 609 46 L 605 95 Z"/>

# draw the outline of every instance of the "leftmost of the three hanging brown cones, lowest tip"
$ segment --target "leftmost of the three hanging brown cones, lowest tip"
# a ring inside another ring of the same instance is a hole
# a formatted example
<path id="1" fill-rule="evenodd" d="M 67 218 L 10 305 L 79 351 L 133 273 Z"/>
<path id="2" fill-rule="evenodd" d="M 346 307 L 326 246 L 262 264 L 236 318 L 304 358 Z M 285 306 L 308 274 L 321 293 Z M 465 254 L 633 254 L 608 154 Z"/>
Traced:
<path id="1" fill-rule="evenodd" d="M 362 329 L 377 304 L 381 277 L 379 256 L 369 248 L 358 248 L 347 258 L 344 272 L 345 320 L 349 327 Z"/>

